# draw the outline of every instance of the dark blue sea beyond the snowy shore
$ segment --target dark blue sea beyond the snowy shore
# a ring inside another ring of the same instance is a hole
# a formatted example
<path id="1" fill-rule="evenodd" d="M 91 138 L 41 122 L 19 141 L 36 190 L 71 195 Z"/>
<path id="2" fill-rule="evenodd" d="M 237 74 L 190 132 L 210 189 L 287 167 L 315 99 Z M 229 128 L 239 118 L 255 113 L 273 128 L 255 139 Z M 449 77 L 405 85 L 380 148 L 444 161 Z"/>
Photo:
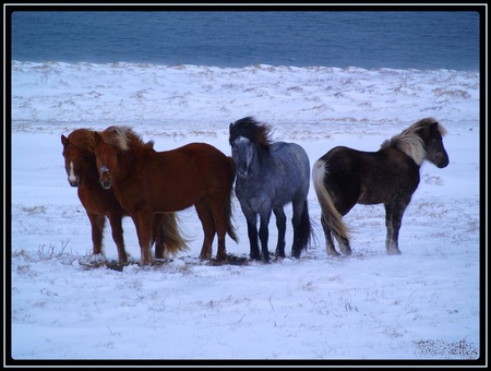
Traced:
<path id="1" fill-rule="evenodd" d="M 479 70 L 474 11 L 15 11 L 11 59 Z"/>

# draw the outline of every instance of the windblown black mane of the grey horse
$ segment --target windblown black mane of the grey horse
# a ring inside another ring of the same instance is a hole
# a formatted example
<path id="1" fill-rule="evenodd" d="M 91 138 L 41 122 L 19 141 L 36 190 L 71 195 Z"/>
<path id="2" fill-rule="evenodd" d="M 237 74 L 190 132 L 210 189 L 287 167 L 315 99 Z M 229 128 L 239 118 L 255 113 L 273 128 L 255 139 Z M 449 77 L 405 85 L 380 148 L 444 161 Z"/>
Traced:
<path id="1" fill-rule="evenodd" d="M 272 144 L 271 140 L 271 129 L 267 124 L 256 121 L 253 117 L 244 117 L 243 119 L 237 120 L 230 123 L 229 127 L 230 145 L 239 136 L 247 137 L 252 143 L 261 146 L 266 152 L 270 152 Z"/>

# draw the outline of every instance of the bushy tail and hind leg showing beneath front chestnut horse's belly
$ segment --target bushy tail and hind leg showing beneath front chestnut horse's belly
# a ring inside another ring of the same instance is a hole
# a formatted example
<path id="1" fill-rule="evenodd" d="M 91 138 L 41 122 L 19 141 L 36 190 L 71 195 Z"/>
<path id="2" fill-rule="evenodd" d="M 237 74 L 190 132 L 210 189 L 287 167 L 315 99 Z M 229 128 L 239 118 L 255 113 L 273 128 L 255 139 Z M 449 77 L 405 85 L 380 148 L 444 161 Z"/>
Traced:
<path id="1" fill-rule="evenodd" d="M 189 240 L 183 238 L 183 232 L 178 226 L 179 216 L 177 213 L 155 214 L 156 220 L 156 241 L 155 251 L 160 247 L 164 256 L 176 255 L 178 252 L 188 250 Z M 163 256 L 156 256 L 163 258 Z"/>

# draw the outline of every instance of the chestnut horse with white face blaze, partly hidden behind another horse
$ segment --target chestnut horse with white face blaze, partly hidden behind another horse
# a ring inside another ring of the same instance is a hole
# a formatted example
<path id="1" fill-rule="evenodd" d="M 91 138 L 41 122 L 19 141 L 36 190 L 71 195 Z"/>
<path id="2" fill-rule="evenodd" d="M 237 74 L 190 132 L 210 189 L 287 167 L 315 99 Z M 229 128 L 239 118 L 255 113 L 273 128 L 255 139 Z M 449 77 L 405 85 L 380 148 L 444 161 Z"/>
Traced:
<path id="1" fill-rule="evenodd" d="M 61 135 L 61 143 L 69 183 L 77 187 L 79 199 L 91 220 L 93 254 L 103 253 L 103 234 L 107 216 L 112 239 L 118 248 L 118 260 L 120 263 L 128 262 L 121 225 L 128 213 L 121 207 L 112 190 L 100 187 L 94 153 L 94 131 L 76 129 L 68 137 Z M 156 258 L 188 249 L 180 235 L 177 218 L 176 213 L 155 216 L 152 229 Z"/>

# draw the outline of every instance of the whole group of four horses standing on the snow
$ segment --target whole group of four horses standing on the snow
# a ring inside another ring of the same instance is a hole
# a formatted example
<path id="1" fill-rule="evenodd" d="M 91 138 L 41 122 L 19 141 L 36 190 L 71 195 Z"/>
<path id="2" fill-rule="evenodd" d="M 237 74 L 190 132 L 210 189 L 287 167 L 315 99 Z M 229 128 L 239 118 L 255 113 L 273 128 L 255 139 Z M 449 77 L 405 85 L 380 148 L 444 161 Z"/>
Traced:
<path id="1" fill-rule="evenodd" d="M 128 263 L 124 216 L 135 225 L 141 265 L 152 264 L 153 256 L 163 259 L 185 251 L 189 240 L 182 237 L 177 213 L 194 206 L 204 232 L 199 258 L 212 260 L 216 235 L 216 261 L 227 261 L 226 235 L 238 242 L 231 223 L 235 194 L 247 220 L 250 258 L 267 263 L 272 213 L 278 228 L 275 256 L 285 256 L 287 204 L 292 206 L 291 255 L 300 258 L 311 243 L 313 228 L 307 202 L 311 180 L 328 255 L 339 255 L 333 237 L 342 253 L 351 254 L 342 218 L 356 204 L 384 204 L 386 252 L 400 254 L 402 218 L 418 188 L 422 161 L 439 168 L 448 165 L 444 135 L 442 124 L 424 118 L 386 140 L 376 152 L 336 146 L 313 164 L 312 173 L 300 145 L 272 141 L 270 125 L 253 117 L 230 123 L 231 156 L 206 143 L 157 152 L 153 141 L 144 142 L 129 127 L 76 129 L 61 135 L 61 143 L 69 183 L 77 188 L 91 222 L 93 254 L 103 254 L 108 218 L 118 261 Z"/>

